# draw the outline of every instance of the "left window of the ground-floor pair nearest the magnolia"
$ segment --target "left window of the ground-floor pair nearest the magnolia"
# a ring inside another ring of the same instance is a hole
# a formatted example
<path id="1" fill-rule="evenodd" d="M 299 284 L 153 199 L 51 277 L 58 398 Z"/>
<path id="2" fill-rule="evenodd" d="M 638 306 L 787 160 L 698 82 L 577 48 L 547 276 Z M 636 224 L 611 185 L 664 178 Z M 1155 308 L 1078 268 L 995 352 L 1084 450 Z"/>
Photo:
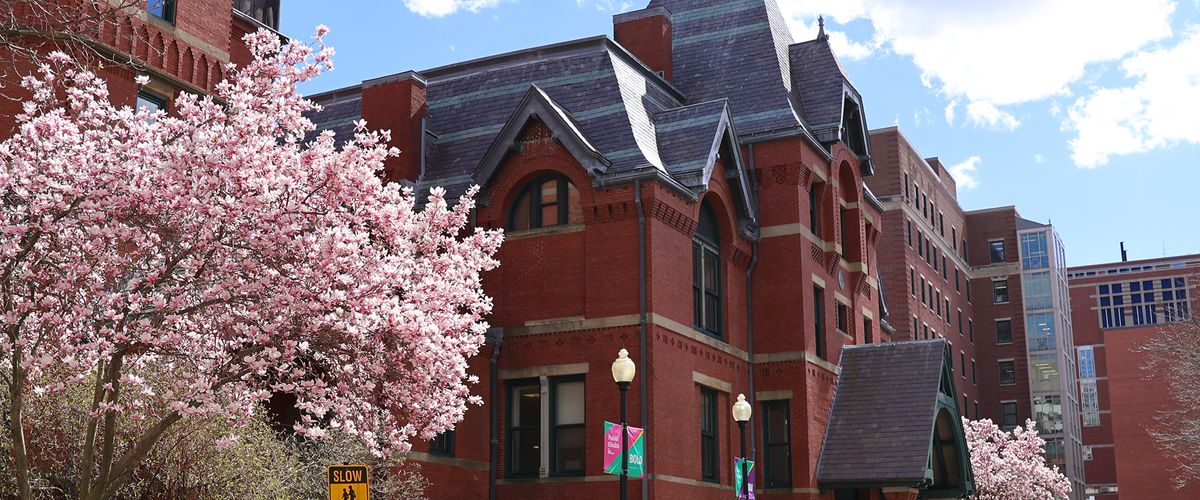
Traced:
<path id="1" fill-rule="evenodd" d="M 538 379 L 509 385 L 509 476 L 536 476 L 541 468 L 541 386 Z"/>

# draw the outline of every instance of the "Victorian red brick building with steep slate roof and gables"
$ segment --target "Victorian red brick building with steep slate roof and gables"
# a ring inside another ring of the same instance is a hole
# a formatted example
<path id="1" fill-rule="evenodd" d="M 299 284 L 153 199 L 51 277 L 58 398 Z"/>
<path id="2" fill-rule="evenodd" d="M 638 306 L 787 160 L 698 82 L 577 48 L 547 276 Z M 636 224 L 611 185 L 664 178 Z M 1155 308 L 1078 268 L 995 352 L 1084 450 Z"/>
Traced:
<path id="1" fill-rule="evenodd" d="M 635 498 L 732 494 L 738 393 L 763 498 L 970 490 L 968 471 L 949 475 L 965 453 L 946 451 L 961 430 L 934 438 L 934 399 L 920 477 L 817 480 L 827 422 L 846 417 L 832 412 L 839 353 L 892 341 L 863 97 L 823 30 L 793 43 L 772 0 L 652 0 L 614 32 L 313 97 L 335 137 L 360 118 L 392 131 L 388 179 L 480 185 L 475 223 L 506 229 L 473 365 L 486 404 L 410 456 L 430 495 L 614 496 L 601 432 L 618 420 L 622 348 L 638 369 L 630 423 L 647 432 Z M 935 398 L 942 360 L 925 362 Z"/>

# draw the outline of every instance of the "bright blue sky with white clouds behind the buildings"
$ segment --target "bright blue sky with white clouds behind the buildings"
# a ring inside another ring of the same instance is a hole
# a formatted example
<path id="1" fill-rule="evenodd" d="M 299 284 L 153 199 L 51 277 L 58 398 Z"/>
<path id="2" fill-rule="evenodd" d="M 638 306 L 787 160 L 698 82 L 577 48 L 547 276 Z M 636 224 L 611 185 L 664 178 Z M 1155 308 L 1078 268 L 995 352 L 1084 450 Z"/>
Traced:
<path id="1" fill-rule="evenodd" d="M 1072 265 L 1200 253 L 1200 0 L 778 0 L 797 41 L 816 17 L 868 125 L 899 125 L 955 169 L 966 210 L 1054 223 Z M 284 2 L 281 31 L 326 24 L 336 70 L 368 78 L 612 35 L 647 0 Z"/>

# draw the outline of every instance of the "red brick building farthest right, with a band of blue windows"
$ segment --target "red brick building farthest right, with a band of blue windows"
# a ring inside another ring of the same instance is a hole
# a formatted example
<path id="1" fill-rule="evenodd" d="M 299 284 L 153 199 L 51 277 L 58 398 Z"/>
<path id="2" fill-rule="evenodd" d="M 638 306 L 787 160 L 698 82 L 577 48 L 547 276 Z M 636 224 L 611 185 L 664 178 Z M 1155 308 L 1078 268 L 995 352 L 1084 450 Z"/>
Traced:
<path id="1" fill-rule="evenodd" d="M 1200 255 L 1069 270 L 1088 495 L 1182 498 L 1169 481 L 1176 462 L 1146 433 L 1170 398 L 1162 379 L 1147 379 L 1146 354 L 1134 348 L 1195 311 L 1198 270 Z"/>

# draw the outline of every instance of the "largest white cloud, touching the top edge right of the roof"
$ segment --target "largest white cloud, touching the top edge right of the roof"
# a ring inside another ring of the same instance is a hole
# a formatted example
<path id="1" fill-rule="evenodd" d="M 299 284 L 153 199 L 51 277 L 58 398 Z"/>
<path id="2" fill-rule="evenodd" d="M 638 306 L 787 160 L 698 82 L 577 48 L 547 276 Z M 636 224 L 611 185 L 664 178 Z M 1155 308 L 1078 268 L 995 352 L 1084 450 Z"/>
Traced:
<path id="1" fill-rule="evenodd" d="M 1007 128 L 1019 121 L 1001 107 L 1067 95 L 1088 65 L 1169 37 L 1175 1 L 780 0 L 780 7 L 797 40 L 815 36 L 818 14 L 839 25 L 868 22 L 870 41 L 846 42 L 860 46 L 852 56 L 865 49 L 908 56 L 928 86 L 952 103 L 980 103 L 980 119 Z M 827 25 L 827 32 L 835 41 L 836 31 Z M 952 112 L 947 118 L 953 122 Z"/>

